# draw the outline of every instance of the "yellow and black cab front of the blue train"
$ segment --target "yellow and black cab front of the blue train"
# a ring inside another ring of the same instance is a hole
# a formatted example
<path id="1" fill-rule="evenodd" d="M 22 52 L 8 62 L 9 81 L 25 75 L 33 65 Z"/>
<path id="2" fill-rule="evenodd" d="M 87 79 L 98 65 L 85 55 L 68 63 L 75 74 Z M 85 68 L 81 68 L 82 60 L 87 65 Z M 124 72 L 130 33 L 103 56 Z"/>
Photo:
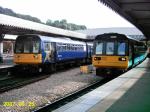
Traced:
<path id="1" fill-rule="evenodd" d="M 42 63 L 41 39 L 36 35 L 19 36 L 16 39 L 14 62 L 16 64 Z"/>

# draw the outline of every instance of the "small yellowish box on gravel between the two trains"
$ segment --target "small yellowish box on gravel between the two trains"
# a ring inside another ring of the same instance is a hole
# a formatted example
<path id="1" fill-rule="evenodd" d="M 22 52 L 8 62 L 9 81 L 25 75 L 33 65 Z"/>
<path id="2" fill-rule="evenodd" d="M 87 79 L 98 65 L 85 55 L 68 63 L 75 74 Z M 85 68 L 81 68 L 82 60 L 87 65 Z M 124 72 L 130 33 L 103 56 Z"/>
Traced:
<path id="1" fill-rule="evenodd" d="M 92 73 L 93 71 L 94 71 L 93 65 L 80 66 L 80 73 L 81 74 L 88 74 L 88 73 Z"/>

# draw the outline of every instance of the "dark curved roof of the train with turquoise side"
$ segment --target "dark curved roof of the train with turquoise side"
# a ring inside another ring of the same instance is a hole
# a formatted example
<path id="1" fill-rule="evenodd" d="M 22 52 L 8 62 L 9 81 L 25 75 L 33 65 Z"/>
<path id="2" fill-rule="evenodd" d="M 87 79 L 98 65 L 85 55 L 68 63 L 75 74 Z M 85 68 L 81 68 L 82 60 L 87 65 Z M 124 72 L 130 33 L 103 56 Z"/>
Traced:
<path id="1" fill-rule="evenodd" d="M 118 37 L 115 37 L 115 36 L 118 36 Z M 99 40 L 99 39 L 107 39 L 107 38 L 117 38 L 117 39 L 124 39 L 124 40 L 132 40 L 132 41 L 137 41 L 137 42 L 140 42 L 139 40 L 136 40 L 130 36 L 127 36 L 127 35 L 124 35 L 124 34 L 119 34 L 119 33 L 104 33 L 104 34 L 101 34 L 101 35 L 97 35 L 95 37 L 95 40 Z"/>

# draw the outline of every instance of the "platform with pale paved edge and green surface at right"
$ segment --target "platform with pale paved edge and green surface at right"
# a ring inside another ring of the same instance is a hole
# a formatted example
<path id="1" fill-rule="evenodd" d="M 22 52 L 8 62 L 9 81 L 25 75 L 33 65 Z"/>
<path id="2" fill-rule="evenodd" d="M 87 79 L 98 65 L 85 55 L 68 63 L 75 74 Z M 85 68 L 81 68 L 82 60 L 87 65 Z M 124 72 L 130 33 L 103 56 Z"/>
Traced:
<path id="1" fill-rule="evenodd" d="M 150 59 L 53 112 L 150 112 Z"/>

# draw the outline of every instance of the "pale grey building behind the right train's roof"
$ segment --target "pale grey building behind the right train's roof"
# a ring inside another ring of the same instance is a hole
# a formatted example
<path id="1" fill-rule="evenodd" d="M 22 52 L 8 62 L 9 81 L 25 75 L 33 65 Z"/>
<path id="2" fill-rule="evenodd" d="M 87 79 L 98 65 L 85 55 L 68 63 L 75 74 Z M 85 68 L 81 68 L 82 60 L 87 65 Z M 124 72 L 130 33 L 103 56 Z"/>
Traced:
<path id="1" fill-rule="evenodd" d="M 131 36 L 132 38 L 138 40 L 145 38 L 142 32 L 134 27 L 95 28 L 87 30 L 78 30 L 77 32 L 87 34 L 89 39 L 93 39 L 96 35 L 104 33 L 121 33 Z"/>

